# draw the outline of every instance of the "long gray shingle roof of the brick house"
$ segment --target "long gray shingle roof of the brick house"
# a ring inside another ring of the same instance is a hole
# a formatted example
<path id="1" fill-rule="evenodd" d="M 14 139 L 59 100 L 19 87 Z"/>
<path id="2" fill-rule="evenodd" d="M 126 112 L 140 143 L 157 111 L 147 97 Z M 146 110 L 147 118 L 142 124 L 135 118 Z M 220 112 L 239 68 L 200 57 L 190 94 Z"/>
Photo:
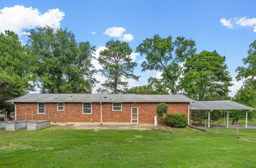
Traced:
<path id="1" fill-rule="evenodd" d="M 6 102 L 196 102 L 181 94 L 27 94 Z"/>

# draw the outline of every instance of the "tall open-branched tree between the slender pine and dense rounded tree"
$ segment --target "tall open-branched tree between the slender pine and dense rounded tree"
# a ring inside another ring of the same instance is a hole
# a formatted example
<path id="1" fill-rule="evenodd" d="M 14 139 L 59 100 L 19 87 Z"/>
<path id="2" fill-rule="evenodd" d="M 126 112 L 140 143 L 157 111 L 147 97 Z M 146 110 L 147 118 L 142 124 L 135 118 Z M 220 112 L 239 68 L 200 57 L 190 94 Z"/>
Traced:
<path id="1" fill-rule="evenodd" d="M 161 38 L 159 35 L 143 40 L 136 48 L 136 52 L 141 56 L 146 55 L 146 60 L 141 65 L 142 72 L 146 70 L 162 72 L 161 79 L 150 77 L 148 82 L 156 83 L 156 87 L 162 85 L 172 94 L 176 94 L 178 92 L 176 85 L 181 74 L 180 64 L 194 55 L 195 45 L 193 40 L 184 37 L 177 37 L 174 42 L 171 36 Z"/>

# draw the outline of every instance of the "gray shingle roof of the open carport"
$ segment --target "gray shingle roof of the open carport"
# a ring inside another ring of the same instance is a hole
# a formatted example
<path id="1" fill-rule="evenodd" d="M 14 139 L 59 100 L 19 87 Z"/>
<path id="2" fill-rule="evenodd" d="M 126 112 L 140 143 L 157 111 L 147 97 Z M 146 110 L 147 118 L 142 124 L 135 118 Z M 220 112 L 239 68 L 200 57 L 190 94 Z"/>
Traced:
<path id="1" fill-rule="evenodd" d="M 255 110 L 231 100 L 198 101 L 189 105 L 191 110 Z"/>

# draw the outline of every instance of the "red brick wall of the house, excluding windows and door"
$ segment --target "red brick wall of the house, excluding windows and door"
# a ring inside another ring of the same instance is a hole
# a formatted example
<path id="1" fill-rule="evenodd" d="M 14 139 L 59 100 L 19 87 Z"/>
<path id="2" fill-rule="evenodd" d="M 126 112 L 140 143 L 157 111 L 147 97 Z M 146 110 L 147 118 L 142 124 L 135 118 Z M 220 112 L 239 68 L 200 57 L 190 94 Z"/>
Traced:
<path id="1" fill-rule="evenodd" d="M 102 122 L 131 122 L 131 108 L 138 108 L 139 124 L 154 124 L 159 103 L 122 103 L 122 111 L 112 111 L 112 103 L 102 103 Z M 168 113 L 188 115 L 188 103 L 166 103 Z M 92 114 L 82 114 L 82 103 L 64 103 L 64 111 L 57 111 L 57 103 L 45 103 L 45 114 L 37 114 L 37 103 L 16 103 L 17 120 L 50 120 L 51 122 L 100 122 L 100 103 L 92 103 Z"/>

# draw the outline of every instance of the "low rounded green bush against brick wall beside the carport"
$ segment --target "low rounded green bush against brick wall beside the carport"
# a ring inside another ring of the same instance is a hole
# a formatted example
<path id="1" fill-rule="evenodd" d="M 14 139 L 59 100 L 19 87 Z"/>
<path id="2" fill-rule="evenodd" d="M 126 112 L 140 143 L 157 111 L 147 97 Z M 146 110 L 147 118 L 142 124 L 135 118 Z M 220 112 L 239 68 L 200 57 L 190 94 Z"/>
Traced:
<path id="1" fill-rule="evenodd" d="M 186 114 L 168 113 L 166 114 L 166 123 L 171 127 L 185 128 L 188 126 L 188 120 Z"/>

